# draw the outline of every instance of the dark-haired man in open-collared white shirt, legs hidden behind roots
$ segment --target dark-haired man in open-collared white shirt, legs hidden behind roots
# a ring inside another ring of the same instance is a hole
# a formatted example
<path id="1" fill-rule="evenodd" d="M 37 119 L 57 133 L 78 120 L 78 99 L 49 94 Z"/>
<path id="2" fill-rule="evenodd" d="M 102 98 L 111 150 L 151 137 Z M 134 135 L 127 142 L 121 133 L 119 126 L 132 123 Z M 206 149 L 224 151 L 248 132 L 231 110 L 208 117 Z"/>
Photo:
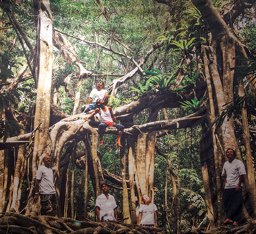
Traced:
<path id="1" fill-rule="evenodd" d="M 103 193 L 96 199 L 97 221 L 116 221 L 117 222 L 117 205 L 115 198 L 109 194 L 109 187 L 103 183 L 101 185 Z"/>

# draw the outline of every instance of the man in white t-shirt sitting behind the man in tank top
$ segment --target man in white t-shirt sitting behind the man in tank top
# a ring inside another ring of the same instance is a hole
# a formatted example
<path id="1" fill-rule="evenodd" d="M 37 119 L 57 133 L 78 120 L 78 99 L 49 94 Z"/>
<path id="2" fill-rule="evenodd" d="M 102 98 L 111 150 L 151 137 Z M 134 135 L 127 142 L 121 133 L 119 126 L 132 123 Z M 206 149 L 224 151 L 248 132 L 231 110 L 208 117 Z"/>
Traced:
<path id="1" fill-rule="evenodd" d="M 89 110 L 95 109 L 97 107 L 97 100 L 103 100 L 105 105 L 108 103 L 108 91 L 102 89 L 104 87 L 104 82 L 102 80 L 98 81 L 97 88 L 93 88 L 86 105 L 83 105 L 81 108 L 82 112 L 87 112 Z M 92 104 L 90 104 L 92 100 Z"/>

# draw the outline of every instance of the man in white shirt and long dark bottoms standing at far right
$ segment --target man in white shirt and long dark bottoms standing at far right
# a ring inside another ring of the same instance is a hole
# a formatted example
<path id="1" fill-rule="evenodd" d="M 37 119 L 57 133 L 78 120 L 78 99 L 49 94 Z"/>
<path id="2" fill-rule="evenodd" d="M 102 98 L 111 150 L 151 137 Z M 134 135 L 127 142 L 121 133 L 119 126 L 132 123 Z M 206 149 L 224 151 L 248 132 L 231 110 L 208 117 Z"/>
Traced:
<path id="1" fill-rule="evenodd" d="M 244 163 L 236 159 L 236 151 L 228 148 L 226 151 L 228 161 L 224 163 L 221 176 L 225 180 L 223 201 L 227 219 L 222 225 L 237 226 L 241 221 L 242 212 L 242 182 L 246 170 Z"/>

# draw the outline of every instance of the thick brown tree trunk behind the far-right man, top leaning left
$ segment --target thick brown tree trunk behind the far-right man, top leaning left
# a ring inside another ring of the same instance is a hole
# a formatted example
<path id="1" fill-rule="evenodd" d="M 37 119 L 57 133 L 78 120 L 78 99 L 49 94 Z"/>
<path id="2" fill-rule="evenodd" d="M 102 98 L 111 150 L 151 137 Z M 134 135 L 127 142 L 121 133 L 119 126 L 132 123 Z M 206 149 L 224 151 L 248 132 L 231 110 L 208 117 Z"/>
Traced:
<path id="1" fill-rule="evenodd" d="M 236 62 L 236 45 L 239 45 L 239 48 L 242 50 L 243 46 L 231 32 L 210 0 L 192 0 L 192 3 L 195 4 L 202 13 L 212 36 L 212 46 L 208 48 L 204 47 L 203 56 L 206 77 L 208 76 L 208 90 L 212 84 L 215 90 L 215 94 L 211 91 L 212 97 L 210 97 L 210 101 L 215 100 L 215 98 L 217 101 L 216 103 L 212 101 L 211 104 L 211 122 L 213 123 L 215 117 L 222 114 L 224 107 L 234 102 L 233 83 L 235 70 L 233 68 L 235 68 Z M 214 109 L 214 106 L 217 106 L 218 109 Z M 228 147 L 236 149 L 237 158 L 242 160 L 236 141 L 233 116 L 229 118 L 225 116 L 222 120 L 223 122 L 220 129 L 216 129 L 220 133 L 220 139 L 217 135 L 213 135 L 219 212 L 222 212 L 223 207 L 221 204 L 221 183 L 219 177 L 225 160 L 225 150 Z M 213 129 L 213 132 L 215 132 L 215 129 Z M 218 152 L 221 152 L 222 156 L 217 156 Z M 252 203 L 255 203 L 254 199 Z M 223 215 L 219 213 L 219 221 L 221 221 L 222 217 Z"/>

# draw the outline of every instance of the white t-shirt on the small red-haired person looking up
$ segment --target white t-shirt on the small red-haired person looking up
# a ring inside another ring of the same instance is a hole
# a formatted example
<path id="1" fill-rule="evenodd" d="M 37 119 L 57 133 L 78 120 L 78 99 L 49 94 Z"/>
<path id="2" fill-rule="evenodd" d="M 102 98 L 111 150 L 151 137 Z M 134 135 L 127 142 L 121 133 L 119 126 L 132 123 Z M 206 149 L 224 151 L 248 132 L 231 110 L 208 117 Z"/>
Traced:
<path id="1" fill-rule="evenodd" d="M 140 224 L 154 225 L 155 211 L 157 211 L 157 208 L 154 203 L 149 205 L 140 204 L 139 213 L 142 213 Z"/>

